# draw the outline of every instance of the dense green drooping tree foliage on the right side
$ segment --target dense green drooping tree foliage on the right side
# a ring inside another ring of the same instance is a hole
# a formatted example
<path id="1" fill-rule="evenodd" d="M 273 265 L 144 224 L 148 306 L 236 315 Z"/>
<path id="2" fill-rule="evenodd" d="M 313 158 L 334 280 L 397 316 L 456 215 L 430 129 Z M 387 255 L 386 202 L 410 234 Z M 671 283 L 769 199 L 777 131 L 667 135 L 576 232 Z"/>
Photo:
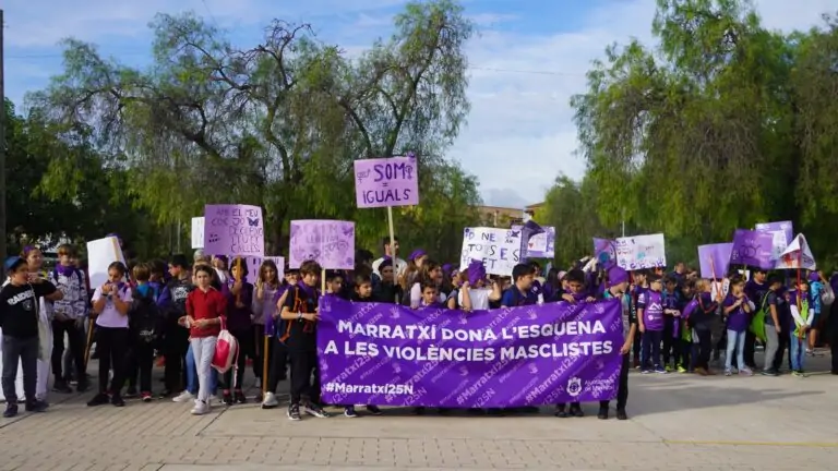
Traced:
<path id="1" fill-rule="evenodd" d="M 546 217 L 587 206 L 582 217 L 606 227 L 665 232 L 682 259 L 775 220 L 792 220 L 816 252 L 834 251 L 838 108 L 825 97 L 838 92 L 837 26 L 825 16 L 822 28 L 782 35 L 749 1 L 658 0 L 659 48 L 610 46 L 573 97 L 588 171 L 580 185 L 560 179 Z M 590 198 L 555 197 L 586 185 L 597 189 Z M 571 226 L 585 228 L 582 239 L 607 235 L 589 224 Z"/>

